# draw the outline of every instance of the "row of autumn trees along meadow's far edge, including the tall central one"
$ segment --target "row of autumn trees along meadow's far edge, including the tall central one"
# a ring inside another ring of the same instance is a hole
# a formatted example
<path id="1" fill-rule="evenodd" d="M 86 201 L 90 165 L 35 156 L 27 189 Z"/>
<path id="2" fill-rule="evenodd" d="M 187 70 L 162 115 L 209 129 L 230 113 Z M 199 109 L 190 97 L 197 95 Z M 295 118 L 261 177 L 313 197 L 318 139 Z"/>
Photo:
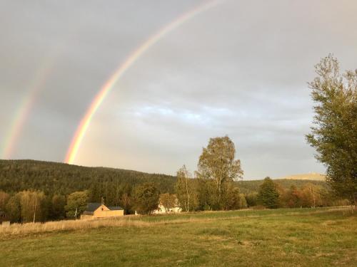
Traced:
<path id="1" fill-rule="evenodd" d="M 252 206 L 274 209 L 349 203 L 336 197 L 325 186 L 308 182 L 303 187 L 292 185 L 287 189 L 269 177 L 264 179 L 256 192 L 241 193 L 238 181 L 242 179 L 243 170 L 240 160 L 236 159 L 235 145 L 228 136 L 209 140 L 198 159 L 197 169 L 191 174 L 183 165 L 178 169 L 176 177 L 159 175 L 149 179 L 149 182 L 141 177 L 139 182 L 135 180 L 133 184 L 129 184 L 128 179 L 92 177 L 90 185 L 85 187 L 82 184 L 81 188 L 84 189 L 70 194 L 45 194 L 39 189 L 10 193 L 1 191 L 0 210 L 6 211 L 11 221 L 31 222 L 77 219 L 86 209 L 88 202 L 103 200 L 108 206 L 123 207 L 126 214 L 134 214 L 135 211 L 151 214 L 159 204 L 163 205 L 166 211 L 175 206 L 180 206 L 183 211 L 206 211 L 244 209 Z M 21 168 L 21 171 L 24 172 L 24 168 Z M 109 171 L 113 172 L 111 169 Z M 141 182 L 143 180 L 144 182 Z M 168 180 L 172 183 L 170 191 L 167 184 L 166 187 L 161 184 Z M 64 181 L 69 182 L 69 179 Z M 76 181 L 73 184 L 76 184 Z M 47 192 L 55 190 L 46 188 Z"/>

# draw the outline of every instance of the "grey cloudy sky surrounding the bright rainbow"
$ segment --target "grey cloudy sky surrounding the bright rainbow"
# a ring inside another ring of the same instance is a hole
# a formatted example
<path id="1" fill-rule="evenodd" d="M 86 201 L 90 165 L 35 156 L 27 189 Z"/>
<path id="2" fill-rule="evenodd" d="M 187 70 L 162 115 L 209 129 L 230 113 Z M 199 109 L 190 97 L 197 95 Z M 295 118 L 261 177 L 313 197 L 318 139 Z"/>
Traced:
<path id="1" fill-rule="evenodd" d="M 0 1 L 0 157 L 63 162 L 116 68 L 207 2 Z M 328 53 L 357 67 L 356 11 L 354 0 L 227 0 L 193 16 L 118 80 L 74 163 L 193 171 L 209 138 L 228 135 L 246 179 L 323 172 L 304 139 L 307 82 Z"/>

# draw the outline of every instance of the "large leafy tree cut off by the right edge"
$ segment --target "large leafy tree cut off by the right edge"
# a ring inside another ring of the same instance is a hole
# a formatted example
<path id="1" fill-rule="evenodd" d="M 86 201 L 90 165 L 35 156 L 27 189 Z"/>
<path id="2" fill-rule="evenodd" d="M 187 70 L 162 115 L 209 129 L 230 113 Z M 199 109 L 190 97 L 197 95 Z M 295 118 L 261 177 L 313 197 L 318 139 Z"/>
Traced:
<path id="1" fill-rule="evenodd" d="M 309 83 L 315 103 L 314 126 L 306 135 L 325 164 L 327 180 L 341 197 L 356 204 L 357 197 L 357 69 L 341 75 L 330 54 L 316 65 Z"/>

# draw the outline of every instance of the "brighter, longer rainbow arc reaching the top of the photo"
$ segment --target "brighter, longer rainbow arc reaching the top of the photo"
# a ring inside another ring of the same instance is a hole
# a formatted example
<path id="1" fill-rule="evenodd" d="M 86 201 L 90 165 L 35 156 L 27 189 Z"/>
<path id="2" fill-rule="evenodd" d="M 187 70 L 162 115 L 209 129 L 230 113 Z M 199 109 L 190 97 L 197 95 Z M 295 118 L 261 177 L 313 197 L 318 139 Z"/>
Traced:
<path id="1" fill-rule="evenodd" d="M 218 4 L 222 4 L 224 0 L 215 0 L 215 1 L 208 1 L 200 6 L 197 6 L 195 9 L 191 9 L 190 11 L 182 14 L 171 23 L 161 28 L 157 33 L 153 36 L 149 37 L 144 43 L 141 44 L 136 50 L 134 50 L 126 61 L 122 63 L 119 68 L 111 75 L 111 78 L 104 83 L 97 93 L 94 100 L 91 102 L 89 109 L 86 111 L 86 114 L 82 118 L 79 126 L 77 127 L 76 133 L 72 139 L 71 145 L 69 146 L 69 150 L 67 151 L 66 158 L 64 161 L 69 164 L 73 164 L 74 159 L 78 153 L 79 147 L 81 146 L 81 142 L 86 135 L 86 131 L 88 130 L 89 125 L 91 124 L 91 120 L 96 113 L 96 110 L 100 107 L 101 103 L 103 103 L 104 98 L 106 95 L 109 94 L 111 89 L 114 87 L 115 83 L 121 78 L 122 75 L 128 70 L 134 63 L 137 61 L 151 46 L 157 43 L 161 38 L 163 38 L 167 33 L 174 31 L 175 28 L 181 26 L 183 23 L 192 19 L 194 16 L 200 14 L 207 9 L 211 9 L 213 6 L 217 6 Z"/>

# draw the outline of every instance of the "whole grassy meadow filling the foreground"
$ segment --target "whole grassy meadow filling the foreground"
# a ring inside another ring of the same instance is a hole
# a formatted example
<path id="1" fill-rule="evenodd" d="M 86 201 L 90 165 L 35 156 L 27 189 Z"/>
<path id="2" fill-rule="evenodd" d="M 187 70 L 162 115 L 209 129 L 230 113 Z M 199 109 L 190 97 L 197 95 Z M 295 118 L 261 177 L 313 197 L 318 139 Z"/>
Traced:
<path id="1" fill-rule="evenodd" d="M 357 261 L 357 217 L 348 208 L 52 224 L 0 231 L 0 265 L 350 267 Z"/>

